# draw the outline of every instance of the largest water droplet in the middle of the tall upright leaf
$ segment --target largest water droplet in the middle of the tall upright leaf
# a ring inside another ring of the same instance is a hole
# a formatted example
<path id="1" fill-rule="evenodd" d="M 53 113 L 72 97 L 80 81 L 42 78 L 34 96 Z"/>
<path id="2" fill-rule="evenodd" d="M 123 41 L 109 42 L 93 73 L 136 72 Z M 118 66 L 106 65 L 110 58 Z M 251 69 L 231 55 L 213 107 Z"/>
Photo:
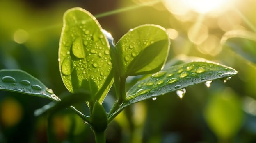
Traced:
<path id="1" fill-rule="evenodd" d="M 73 42 L 72 52 L 77 58 L 85 58 L 84 46 L 82 45 L 82 39 L 77 38 Z"/>

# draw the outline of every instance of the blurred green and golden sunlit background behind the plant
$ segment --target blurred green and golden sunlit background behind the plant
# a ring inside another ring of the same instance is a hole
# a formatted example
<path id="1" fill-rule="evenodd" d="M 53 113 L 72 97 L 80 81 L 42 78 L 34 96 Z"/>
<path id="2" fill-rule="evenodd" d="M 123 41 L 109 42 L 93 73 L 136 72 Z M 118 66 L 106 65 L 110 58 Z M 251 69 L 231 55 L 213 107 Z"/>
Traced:
<path id="1" fill-rule="evenodd" d="M 1 0 L 0 69 L 25 70 L 62 96 L 57 53 L 67 9 L 86 9 L 115 41 L 131 28 L 158 24 L 171 38 L 166 66 L 200 57 L 238 74 L 187 87 L 182 99 L 171 92 L 130 106 L 110 124 L 107 143 L 255 143 L 255 6 L 255 0 Z M 106 110 L 113 98 L 105 99 Z M 0 143 L 47 143 L 47 116 L 33 114 L 49 102 L 0 91 Z M 56 143 L 94 143 L 90 126 L 73 112 L 63 109 L 50 120 Z"/>

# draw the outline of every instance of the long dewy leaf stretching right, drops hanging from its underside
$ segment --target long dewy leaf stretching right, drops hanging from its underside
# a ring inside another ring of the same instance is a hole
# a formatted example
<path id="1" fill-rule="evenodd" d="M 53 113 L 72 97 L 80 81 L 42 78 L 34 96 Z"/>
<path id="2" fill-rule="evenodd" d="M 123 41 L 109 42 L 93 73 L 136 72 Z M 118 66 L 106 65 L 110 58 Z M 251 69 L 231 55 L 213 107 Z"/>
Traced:
<path id="1" fill-rule="evenodd" d="M 213 62 L 190 62 L 175 65 L 159 71 L 145 80 L 137 82 L 126 93 L 124 101 L 115 112 L 110 113 L 109 120 L 121 110 L 133 103 L 154 98 L 187 86 L 204 83 L 209 80 L 223 79 L 237 74 L 235 69 Z M 225 79 L 227 78 L 227 79 Z"/>

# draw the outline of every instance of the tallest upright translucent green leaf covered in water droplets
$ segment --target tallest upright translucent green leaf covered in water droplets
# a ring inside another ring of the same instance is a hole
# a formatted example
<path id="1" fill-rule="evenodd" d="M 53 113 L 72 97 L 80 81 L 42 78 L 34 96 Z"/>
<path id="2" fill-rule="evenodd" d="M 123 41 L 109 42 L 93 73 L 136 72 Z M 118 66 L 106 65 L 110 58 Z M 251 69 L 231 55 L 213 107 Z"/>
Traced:
<path id="1" fill-rule="evenodd" d="M 91 92 L 94 100 L 103 101 L 112 82 L 109 44 L 94 16 L 82 8 L 64 14 L 59 43 L 59 69 L 66 88 Z"/>

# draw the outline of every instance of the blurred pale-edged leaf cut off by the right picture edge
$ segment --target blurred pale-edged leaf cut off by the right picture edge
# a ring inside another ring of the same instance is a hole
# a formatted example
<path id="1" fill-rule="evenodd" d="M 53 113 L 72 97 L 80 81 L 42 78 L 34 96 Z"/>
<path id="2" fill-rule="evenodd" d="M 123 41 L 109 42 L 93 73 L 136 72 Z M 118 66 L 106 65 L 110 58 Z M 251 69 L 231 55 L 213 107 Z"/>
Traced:
<path id="1" fill-rule="evenodd" d="M 256 33 L 245 30 L 228 31 L 222 36 L 221 44 L 231 48 L 243 58 L 256 63 Z"/>

